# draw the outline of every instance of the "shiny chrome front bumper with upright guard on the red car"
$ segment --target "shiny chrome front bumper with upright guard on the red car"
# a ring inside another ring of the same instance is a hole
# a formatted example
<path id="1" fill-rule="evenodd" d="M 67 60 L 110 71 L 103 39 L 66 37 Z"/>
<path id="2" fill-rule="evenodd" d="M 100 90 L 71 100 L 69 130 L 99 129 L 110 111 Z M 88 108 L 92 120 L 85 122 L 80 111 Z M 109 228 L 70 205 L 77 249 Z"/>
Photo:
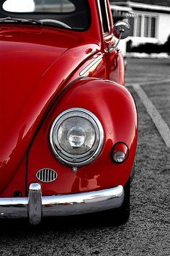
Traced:
<path id="1" fill-rule="evenodd" d="M 0 218 L 29 218 L 40 223 L 42 216 L 69 216 L 118 208 L 124 199 L 123 187 L 93 192 L 42 197 L 41 185 L 30 184 L 28 197 L 0 198 Z"/>

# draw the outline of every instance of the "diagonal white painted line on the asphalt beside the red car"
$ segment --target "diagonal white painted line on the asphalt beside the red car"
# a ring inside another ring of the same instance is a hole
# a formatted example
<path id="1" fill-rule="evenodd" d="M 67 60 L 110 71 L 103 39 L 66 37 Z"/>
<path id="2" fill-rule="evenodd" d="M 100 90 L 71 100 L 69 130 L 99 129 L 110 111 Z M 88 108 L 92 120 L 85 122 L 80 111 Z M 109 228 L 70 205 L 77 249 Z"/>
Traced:
<path id="1" fill-rule="evenodd" d="M 166 146 L 170 148 L 170 129 L 169 126 L 166 124 L 164 119 L 162 119 L 161 115 L 158 113 L 153 103 L 148 98 L 144 90 L 141 88 L 139 84 L 132 85 L 135 92 L 138 93 L 140 101 L 142 101 L 143 105 L 146 107 L 146 111 L 151 116 L 153 123 L 156 125 L 158 132 L 160 133 L 161 137 L 163 138 Z"/>

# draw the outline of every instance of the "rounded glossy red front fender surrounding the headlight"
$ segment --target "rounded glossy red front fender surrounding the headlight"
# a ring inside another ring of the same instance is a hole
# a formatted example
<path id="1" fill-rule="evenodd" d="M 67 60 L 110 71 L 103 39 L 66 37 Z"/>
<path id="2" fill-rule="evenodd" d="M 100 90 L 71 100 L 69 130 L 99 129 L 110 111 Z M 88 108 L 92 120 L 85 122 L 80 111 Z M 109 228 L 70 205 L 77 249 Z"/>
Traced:
<path id="1" fill-rule="evenodd" d="M 56 116 L 68 108 L 85 108 L 97 116 L 104 129 L 104 146 L 95 161 L 73 172 L 58 162 L 50 147 L 49 133 Z M 58 173 L 54 182 L 42 182 L 42 195 L 57 195 L 125 186 L 133 169 L 138 137 L 138 115 L 130 92 L 108 80 L 81 78 L 71 82 L 55 99 L 35 136 L 27 158 L 26 187 L 37 180 L 36 173 L 51 168 Z M 117 142 L 130 150 L 127 161 L 116 164 L 110 153 Z"/>

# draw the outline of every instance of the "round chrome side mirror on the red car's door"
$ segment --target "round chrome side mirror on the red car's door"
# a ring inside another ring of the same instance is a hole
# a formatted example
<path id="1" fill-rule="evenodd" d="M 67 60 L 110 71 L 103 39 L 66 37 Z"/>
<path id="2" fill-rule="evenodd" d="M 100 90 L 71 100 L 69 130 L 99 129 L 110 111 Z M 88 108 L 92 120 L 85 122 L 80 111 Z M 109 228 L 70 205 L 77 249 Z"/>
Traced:
<path id="1" fill-rule="evenodd" d="M 113 34 L 117 39 L 125 39 L 130 35 L 130 25 L 125 21 L 118 21 L 113 26 Z"/>

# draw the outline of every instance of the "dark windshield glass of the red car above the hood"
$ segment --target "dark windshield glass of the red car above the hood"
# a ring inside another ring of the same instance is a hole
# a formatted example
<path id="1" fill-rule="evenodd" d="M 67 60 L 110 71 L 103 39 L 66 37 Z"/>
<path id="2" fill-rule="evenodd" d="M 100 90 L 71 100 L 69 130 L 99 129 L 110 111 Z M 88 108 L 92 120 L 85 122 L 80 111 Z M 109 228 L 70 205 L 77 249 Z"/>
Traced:
<path id="1" fill-rule="evenodd" d="M 0 18 L 6 17 L 40 20 L 45 25 L 73 30 L 86 30 L 90 22 L 88 0 L 4 0 Z"/>

